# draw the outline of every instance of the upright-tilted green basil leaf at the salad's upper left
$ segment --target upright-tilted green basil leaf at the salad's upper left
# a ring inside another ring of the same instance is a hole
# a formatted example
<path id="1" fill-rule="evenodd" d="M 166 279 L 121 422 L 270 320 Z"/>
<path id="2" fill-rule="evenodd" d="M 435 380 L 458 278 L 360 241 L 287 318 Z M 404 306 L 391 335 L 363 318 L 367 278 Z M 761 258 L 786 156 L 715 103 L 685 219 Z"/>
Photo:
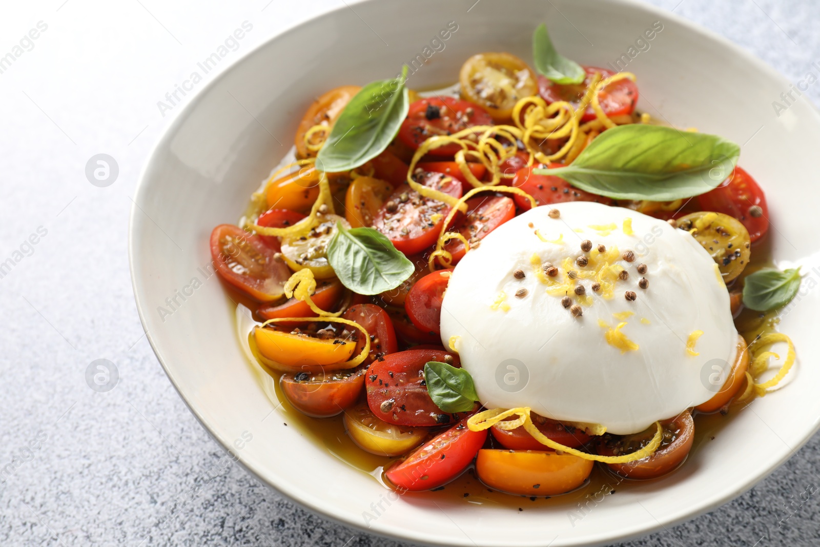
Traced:
<path id="1" fill-rule="evenodd" d="M 407 73 L 405 65 L 399 78 L 367 84 L 350 99 L 317 154 L 317 169 L 350 171 L 385 151 L 410 108 Z"/>

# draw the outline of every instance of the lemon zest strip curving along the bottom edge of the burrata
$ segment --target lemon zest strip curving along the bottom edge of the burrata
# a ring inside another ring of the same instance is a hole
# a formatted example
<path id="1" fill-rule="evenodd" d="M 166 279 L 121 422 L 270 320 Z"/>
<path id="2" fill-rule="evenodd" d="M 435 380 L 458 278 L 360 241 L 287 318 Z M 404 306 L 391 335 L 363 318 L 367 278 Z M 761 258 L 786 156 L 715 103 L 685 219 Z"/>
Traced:
<path id="1" fill-rule="evenodd" d="M 515 420 L 504 421 L 506 418 L 511 416 L 517 416 L 517 418 Z M 581 459 L 601 463 L 629 463 L 635 462 L 639 459 L 648 458 L 655 453 L 655 450 L 657 450 L 661 445 L 661 440 L 663 439 L 663 427 L 660 422 L 655 422 L 655 426 L 657 426 L 658 431 L 655 432 L 652 440 L 650 440 L 649 444 L 647 444 L 644 448 L 636 450 L 631 454 L 623 454 L 622 456 L 599 456 L 598 454 L 587 454 L 585 452 L 581 452 L 581 450 L 571 449 L 568 446 L 555 442 L 548 436 L 541 433 L 538 430 L 538 427 L 536 427 L 532 422 L 529 407 L 510 408 L 509 410 L 504 410 L 503 408 L 492 408 L 490 410 L 485 410 L 484 412 L 474 414 L 467 419 L 467 427 L 470 428 L 470 431 L 484 431 L 492 426 L 497 426 L 499 429 L 503 430 L 511 430 L 523 426 L 524 430 L 532 435 L 535 440 L 553 450 L 560 450 L 564 454 L 572 454 L 573 456 L 577 456 Z"/>

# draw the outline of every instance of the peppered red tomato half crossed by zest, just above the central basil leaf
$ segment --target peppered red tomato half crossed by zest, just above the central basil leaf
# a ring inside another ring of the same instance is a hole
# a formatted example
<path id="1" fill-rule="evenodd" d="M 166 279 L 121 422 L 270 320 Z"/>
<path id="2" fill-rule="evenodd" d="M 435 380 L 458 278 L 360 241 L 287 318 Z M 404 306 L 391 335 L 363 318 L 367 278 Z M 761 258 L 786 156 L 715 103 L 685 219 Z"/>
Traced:
<path id="1" fill-rule="evenodd" d="M 461 183 L 441 173 L 425 173 L 421 184 L 461 198 Z M 406 255 L 421 253 L 435 244 L 450 207 L 435 199 L 425 198 L 410 188 L 406 182 L 396 187 L 394 193 L 376 213 L 373 227 Z M 434 215 L 440 215 L 433 221 Z"/>

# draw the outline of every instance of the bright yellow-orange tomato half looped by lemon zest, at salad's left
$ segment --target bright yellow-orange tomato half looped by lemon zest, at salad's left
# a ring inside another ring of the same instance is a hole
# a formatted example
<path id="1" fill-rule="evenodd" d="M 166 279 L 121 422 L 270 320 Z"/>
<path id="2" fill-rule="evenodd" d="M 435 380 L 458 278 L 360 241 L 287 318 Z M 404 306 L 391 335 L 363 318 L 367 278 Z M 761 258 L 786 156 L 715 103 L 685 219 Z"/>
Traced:
<path id="1" fill-rule="evenodd" d="M 353 340 L 321 339 L 307 334 L 292 335 L 284 330 L 258 327 L 253 330 L 262 357 L 285 367 L 316 370 L 348 361 L 356 349 Z"/>

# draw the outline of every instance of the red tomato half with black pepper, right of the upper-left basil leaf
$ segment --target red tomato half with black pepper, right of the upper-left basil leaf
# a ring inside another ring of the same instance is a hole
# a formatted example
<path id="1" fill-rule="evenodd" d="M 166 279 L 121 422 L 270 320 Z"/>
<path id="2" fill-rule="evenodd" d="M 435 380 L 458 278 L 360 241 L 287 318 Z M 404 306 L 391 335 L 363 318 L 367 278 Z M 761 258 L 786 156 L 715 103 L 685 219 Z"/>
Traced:
<path id="1" fill-rule="evenodd" d="M 479 107 L 454 97 L 422 98 L 410 105 L 399 129 L 399 139 L 414 150 L 438 134 L 453 134 L 473 125 L 493 125 L 493 118 Z M 430 150 L 432 156 L 453 156 L 461 148 L 447 144 Z"/>

